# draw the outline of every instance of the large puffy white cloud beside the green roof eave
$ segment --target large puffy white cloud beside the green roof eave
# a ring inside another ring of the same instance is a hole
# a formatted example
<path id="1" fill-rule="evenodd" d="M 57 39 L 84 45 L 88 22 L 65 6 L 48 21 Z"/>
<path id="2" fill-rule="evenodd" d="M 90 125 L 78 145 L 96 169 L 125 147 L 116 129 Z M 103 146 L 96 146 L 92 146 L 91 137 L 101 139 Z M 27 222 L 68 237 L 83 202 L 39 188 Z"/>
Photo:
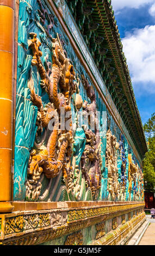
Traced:
<path id="1" fill-rule="evenodd" d="M 122 44 L 134 89 L 155 93 L 155 25 L 134 29 L 126 34 Z M 135 84 L 140 84 L 140 88 Z"/>

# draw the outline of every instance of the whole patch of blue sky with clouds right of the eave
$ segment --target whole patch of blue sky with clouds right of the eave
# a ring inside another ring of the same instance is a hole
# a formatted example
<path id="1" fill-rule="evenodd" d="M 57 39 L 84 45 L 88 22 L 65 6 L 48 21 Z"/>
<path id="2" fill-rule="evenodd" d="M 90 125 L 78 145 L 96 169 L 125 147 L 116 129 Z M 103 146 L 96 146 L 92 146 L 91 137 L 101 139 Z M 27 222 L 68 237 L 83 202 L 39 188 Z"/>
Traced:
<path id="1" fill-rule="evenodd" d="M 155 0 L 111 0 L 142 123 L 155 112 Z"/>

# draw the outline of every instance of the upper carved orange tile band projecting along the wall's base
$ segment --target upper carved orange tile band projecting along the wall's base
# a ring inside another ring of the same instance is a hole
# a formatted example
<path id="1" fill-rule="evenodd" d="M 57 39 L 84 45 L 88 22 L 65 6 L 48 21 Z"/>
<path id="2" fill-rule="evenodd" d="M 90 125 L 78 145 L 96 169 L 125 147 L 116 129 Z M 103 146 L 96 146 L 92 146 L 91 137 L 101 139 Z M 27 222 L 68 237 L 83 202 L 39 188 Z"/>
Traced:
<path id="1" fill-rule="evenodd" d="M 0 243 L 7 243 L 8 240 L 13 242 L 19 240 L 27 241 L 30 245 L 38 244 L 138 209 L 143 211 L 144 202 L 105 207 L 23 211 L 4 214 L 0 215 L 0 218 L 3 219 Z M 39 240 L 31 240 L 31 237 L 34 236 L 38 237 Z"/>

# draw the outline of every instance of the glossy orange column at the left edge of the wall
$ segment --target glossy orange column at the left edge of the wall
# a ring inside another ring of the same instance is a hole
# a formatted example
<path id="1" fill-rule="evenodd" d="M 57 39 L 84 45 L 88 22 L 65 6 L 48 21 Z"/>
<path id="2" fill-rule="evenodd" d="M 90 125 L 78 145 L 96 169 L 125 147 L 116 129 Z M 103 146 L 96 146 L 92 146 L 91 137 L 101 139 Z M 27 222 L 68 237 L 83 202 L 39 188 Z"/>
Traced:
<path id="1" fill-rule="evenodd" d="M 14 0 L 0 1 L 0 212 L 13 210 L 11 171 L 13 153 Z"/>

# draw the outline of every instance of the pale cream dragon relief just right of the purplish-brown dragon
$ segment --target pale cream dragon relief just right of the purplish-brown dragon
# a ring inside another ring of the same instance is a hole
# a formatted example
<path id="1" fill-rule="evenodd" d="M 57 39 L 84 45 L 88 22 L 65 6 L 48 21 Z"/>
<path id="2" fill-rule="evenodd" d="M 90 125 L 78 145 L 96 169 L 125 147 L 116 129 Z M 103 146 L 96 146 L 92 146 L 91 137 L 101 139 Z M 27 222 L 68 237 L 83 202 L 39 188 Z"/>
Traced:
<path id="1" fill-rule="evenodd" d="M 107 131 L 106 167 L 108 168 L 108 191 L 113 199 L 119 197 L 120 184 L 118 181 L 118 168 L 116 152 L 119 149 L 116 137 Z"/>

